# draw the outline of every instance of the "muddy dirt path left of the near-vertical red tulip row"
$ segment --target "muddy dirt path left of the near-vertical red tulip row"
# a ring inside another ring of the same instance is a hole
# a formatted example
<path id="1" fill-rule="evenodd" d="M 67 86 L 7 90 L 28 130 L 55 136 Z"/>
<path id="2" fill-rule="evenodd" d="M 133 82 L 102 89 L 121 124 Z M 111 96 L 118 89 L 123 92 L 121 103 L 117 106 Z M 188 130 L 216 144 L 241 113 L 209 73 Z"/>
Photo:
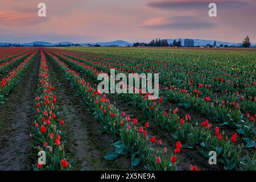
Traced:
<path id="1" fill-rule="evenodd" d="M 29 134 L 35 115 L 39 62 L 38 53 L 6 102 L 0 105 L 0 170 L 31 169 Z"/>

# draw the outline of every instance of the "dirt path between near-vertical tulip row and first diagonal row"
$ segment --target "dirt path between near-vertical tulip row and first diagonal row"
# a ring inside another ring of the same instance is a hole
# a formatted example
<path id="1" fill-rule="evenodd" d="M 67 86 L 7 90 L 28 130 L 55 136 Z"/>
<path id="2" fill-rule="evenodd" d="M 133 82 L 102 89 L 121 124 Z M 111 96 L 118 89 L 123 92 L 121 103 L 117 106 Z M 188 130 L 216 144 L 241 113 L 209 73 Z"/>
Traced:
<path id="1" fill-rule="evenodd" d="M 65 129 L 71 135 L 66 147 L 74 162 L 74 169 L 85 170 L 133 170 L 130 160 L 124 157 L 105 160 L 104 156 L 113 150 L 108 134 L 100 134 L 100 121 L 93 117 L 76 89 L 65 80 L 63 72 L 47 61 L 49 75 L 58 100 L 59 112 L 64 119 Z M 138 169 L 138 168 L 134 168 Z"/>

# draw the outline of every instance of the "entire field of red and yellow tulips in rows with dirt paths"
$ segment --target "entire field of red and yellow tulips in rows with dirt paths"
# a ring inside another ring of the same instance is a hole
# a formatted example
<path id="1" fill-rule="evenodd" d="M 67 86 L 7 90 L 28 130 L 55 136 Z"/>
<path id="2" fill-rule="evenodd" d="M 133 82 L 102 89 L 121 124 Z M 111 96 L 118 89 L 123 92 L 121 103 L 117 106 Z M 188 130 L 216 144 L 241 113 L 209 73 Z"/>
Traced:
<path id="1" fill-rule="evenodd" d="M 110 69 L 158 73 L 158 99 L 100 93 Z M 255 171 L 255 71 L 256 51 L 0 48 L 0 170 Z"/>

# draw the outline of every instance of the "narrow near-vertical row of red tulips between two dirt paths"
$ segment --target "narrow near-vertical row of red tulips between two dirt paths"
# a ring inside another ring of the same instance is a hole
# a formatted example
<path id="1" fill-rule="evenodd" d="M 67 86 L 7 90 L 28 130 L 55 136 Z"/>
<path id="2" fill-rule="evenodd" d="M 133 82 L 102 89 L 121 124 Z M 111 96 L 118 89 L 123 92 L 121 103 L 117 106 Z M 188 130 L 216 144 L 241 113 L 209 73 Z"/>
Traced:
<path id="1" fill-rule="evenodd" d="M 43 50 L 40 49 L 38 96 L 36 100 L 36 120 L 32 127 L 32 144 L 36 154 L 43 156 L 34 166 L 35 170 L 69 170 L 69 156 L 65 154 L 67 135 L 63 130 L 64 121 L 60 119 L 57 108 L 57 96 L 49 80 L 48 66 Z M 41 160 L 43 159 L 43 160 Z"/>

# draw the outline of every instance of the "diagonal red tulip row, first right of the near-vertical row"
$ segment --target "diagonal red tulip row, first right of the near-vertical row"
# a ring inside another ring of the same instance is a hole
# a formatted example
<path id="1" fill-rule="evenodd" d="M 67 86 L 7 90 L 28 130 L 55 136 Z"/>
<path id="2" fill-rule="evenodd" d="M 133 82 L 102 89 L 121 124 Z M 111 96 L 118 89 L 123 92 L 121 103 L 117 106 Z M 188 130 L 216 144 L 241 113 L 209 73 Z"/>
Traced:
<path id="1" fill-rule="evenodd" d="M 52 53 L 46 51 L 53 62 L 61 68 L 69 81 L 72 81 L 72 85 L 75 85 L 80 94 L 84 97 L 86 103 L 94 111 L 94 115 L 100 119 L 102 124 L 102 131 L 106 131 L 114 139 L 119 139 L 113 143 L 115 150 L 109 151 L 105 158 L 113 160 L 118 158 L 119 155 L 125 155 L 131 157 L 131 165 L 137 166 L 139 163 L 143 163 L 147 169 L 156 170 L 176 170 L 177 163 L 175 154 L 170 154 L 169 158 L 166 158 L 167 148 L 163 151 L 151 151 L 148 142 L 154 144 L 155 137 L 148 140 L 147 127 L 137 127 L 134 119 L 130 122 L 130 117 L 125 113 L 119 114 L 114 105 L 110 104 L 105 94 L 101 94 L 94 90 L 90 86 L 89 82 L 86 82 L 84 78 L 81 78 L 72 69 L 68 68 L 68 65 L 63 61 L 52 55 Z M 162 144 L 162 140 L 158 141 L 158 144 Z M 176 154 L 181 148 L 180 142 L 176 144 Z M 193 167 L 196 170 L 196 167 Z"/>

